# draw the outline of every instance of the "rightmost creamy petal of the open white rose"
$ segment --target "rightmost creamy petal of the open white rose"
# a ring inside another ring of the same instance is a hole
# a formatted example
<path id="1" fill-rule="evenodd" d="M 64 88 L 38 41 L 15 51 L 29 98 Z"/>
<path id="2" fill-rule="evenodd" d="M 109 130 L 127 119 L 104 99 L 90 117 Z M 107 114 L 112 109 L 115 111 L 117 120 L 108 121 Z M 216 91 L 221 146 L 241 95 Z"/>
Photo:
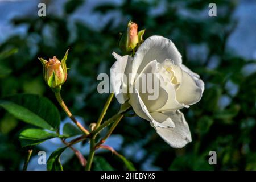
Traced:
<path id="1" fill-rule="evenodd" d="M 204 82 L 199 79 L 199 75 L 193 73 L 184 65 L 181 67 L 182 81 L 177 89 L 176 98 L 180 103 L 192 105 L 200 101 L 204 92 Z"/>

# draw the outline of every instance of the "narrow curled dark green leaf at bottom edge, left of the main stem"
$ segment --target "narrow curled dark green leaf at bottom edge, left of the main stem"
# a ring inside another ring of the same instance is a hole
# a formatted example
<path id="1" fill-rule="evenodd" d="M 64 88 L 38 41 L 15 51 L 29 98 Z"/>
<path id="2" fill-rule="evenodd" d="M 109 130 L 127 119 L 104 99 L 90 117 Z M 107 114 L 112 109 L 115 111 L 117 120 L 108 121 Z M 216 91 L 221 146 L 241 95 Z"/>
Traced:
<path id="1" fill-rule="evenodd" d="M 58 148 L 56 151 L 52 152 L 52 154 L 49 156 L 49 159 L 47 160 L 48 171 L 63 171 L 63 167 L 60 162 L 60 156 L 66 148 L 67 147 Z"/>

